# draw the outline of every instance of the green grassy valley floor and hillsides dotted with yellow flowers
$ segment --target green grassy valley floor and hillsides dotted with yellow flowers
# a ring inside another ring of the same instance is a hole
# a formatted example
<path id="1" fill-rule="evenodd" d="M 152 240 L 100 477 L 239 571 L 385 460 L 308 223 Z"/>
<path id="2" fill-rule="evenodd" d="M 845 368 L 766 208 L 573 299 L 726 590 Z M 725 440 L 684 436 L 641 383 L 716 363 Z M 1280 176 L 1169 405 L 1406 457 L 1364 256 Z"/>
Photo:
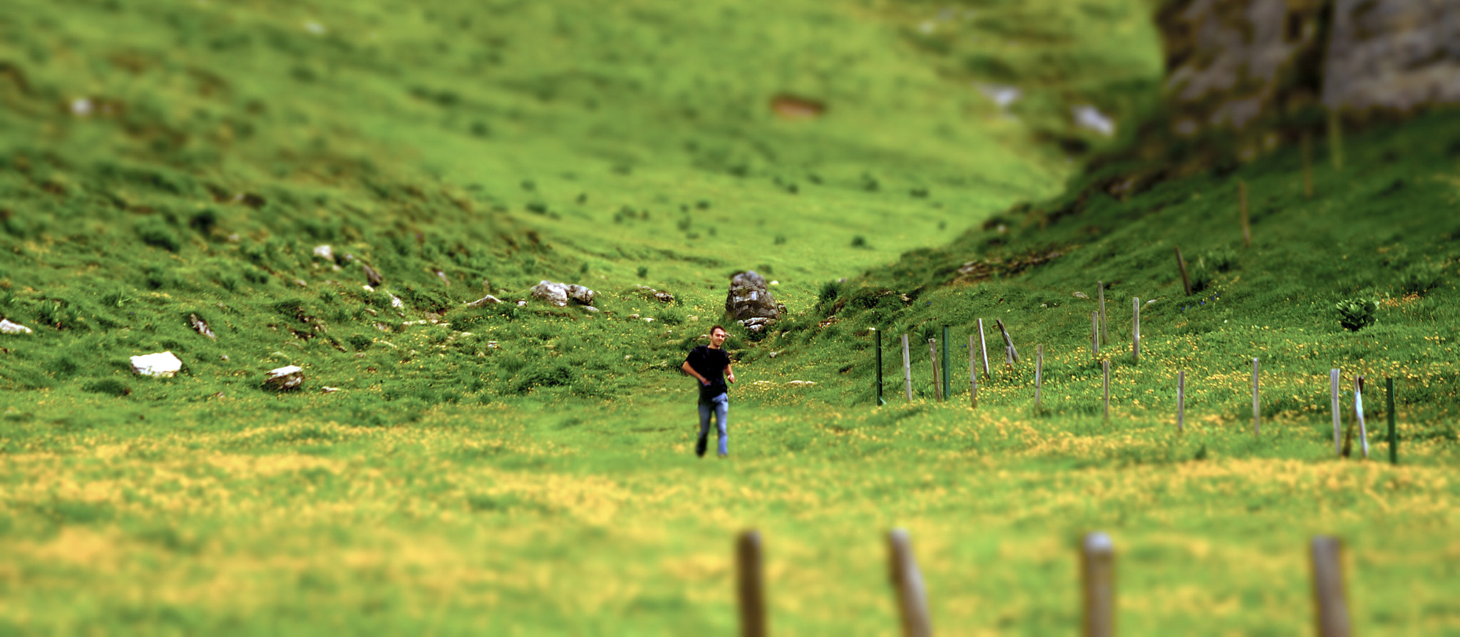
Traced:
<path id="1" fill-rule="evenodd" d="M 1456 117 L 1349 134 L 1311 200 L 1286 147 L 1058 195 L 1153 103 L 1143 6 L 943 9 L 10 3 L 0 312 L 35 334 L 0 337 L 0 633 L 730 633 L 731 532 L 758 526 L 777 631 L 880 634 L 894 525 L 940 633 L 1072 630 L 1092 528 L 1132 634 L 1307 630 L 1314 532 L 1353 551 L 1359 628 L 1460 630 Z M 777 118 L 781 93 L 825 114 Z M 1117 137 L 1072 128 L 1079 103 Z M 742 268 L 791 316 L 731 327 L 733 459 L 695 461 L 675 369 Z M 540 278 L 603 312 L 518 308 Z M 463 305 L 488 292 L 508 303 Z M 1132 296 L 1158 299 L 1139 366 Z M 1372 325 L 1345 329 L 1352 299 Z M 971 413 L 977 318 L 1023 362 L 996 354 Z M 161 350 L 180 376 L 130 372 Z M 291 363 L 301 391 L 260 388 Z M 1400 466 L 1332 459 L 1330 367 L 1369 376 L 1375 443 L 1397 379 Z"/>

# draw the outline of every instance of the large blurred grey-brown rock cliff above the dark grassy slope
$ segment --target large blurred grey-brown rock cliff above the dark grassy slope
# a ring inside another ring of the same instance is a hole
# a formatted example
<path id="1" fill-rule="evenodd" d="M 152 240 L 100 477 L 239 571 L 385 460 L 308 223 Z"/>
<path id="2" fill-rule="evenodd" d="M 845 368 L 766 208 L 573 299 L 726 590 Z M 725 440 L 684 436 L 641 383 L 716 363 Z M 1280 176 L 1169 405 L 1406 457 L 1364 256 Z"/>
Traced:
<path id="1" fill-rule="evenodd" d="M 1156 23 L 1180 136 L 1241 133 L 1320 103 L 1349 114 L 1460 103 L 1457 1 L 1175 0 Z"/>

